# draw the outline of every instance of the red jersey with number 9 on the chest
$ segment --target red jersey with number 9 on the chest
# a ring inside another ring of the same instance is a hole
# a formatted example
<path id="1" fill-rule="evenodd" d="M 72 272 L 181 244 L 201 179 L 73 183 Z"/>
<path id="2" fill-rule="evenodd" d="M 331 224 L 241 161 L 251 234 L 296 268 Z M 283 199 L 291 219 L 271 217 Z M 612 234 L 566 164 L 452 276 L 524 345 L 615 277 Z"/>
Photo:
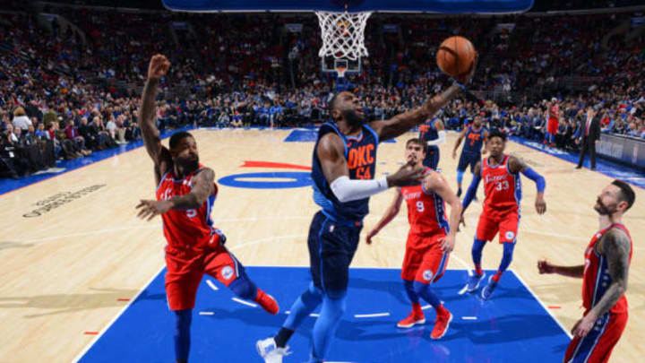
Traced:
<path id="1" fill-rule="evenodd" d="M 432 172 L 426 169 L 424 175 Z M 402 186 L 400 194 L 408 204 L 409 234 L 420 237 L 448 234 L 448 220 L 445 214 L 445 203 L 441 196 L 419 186 Z"/>

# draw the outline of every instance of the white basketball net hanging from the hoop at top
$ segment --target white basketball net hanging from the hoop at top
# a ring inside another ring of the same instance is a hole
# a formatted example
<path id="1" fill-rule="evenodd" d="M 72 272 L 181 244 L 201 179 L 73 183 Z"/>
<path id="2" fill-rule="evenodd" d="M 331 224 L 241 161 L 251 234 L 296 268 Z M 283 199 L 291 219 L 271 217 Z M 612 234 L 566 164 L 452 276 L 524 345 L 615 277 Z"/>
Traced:
<path id="1" fill-rule="evenodd" d="M 357 60 L 367 56 L 365 27 L 371 12 L 315 12 L 321 26 L 323 47 L 318 56 Z"/>

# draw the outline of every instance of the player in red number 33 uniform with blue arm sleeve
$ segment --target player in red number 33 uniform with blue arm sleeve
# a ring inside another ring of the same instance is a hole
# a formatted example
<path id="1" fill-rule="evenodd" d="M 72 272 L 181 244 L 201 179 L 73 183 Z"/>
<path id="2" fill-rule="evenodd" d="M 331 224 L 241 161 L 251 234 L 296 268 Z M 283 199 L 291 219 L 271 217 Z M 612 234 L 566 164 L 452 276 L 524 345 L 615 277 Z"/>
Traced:
<path id="1" fill-rule="evenodd" d="M 520 173 L 533 180 L 538 187 L 535 207 L 538 214 L 546 212 L 544 190 L 546 182 L 523 161 L 514 156 L 503 153 L 506 146 L 506 134 L 493 130 L 488 136 L 488 151 L 490 156 L 484 158 L 475 166 L 475 174 L 470 183 L 469 190 L 462 202 L 463 211 L 466 211 L 473 196 L 477 193 L 479 182 L 484 180 L 484 210 L 479 217 L 477 233 L 472 246 L 472 259 L 475 264 L 475 273 L 469 277 L 469 282 L 464 288 L 469 292 L 477 290 L 479 282 L 484 279 L 485 273 L 481 268 L 481 255 L 487 241 L 493 240 L 499 232 L 499 241 L 503 245 L 502 262 L 497 273 L 488 280 L 488 285 L 482 290 L 482 298 L 490 298 L 497 287 L 503 272 L 511 264 L 513 249 L 517 242 L 517 232 L 520 227 L 520 200 L 521 181 Z M 462 212 L 463 213 L 463 212 Z M 463 216 L 461 217 L 463 222 Z"/>

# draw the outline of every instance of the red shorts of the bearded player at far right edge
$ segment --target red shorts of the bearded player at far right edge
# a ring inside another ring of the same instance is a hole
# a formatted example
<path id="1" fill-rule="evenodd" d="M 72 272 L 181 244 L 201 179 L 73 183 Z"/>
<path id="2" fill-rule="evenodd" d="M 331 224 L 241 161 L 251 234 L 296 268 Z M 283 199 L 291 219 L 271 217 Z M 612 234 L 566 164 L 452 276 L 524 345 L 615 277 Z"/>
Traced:
<path id="1" fill-rule="evenodd" d="M 565 363 L 605 363 L 627 325 L 627 313 L 607 313 L 584 338 L 575 337 L 564 355 Z"/>

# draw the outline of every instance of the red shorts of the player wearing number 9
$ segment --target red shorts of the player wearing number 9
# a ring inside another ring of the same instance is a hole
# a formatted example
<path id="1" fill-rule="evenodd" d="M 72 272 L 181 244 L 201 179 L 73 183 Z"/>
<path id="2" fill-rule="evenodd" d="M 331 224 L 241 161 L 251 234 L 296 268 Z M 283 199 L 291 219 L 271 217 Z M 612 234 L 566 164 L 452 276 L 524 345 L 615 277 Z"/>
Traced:
<path id="1" fill-rule="evenodd" d="M 421 283 L 439 281 L 450 258 L 450 254 L 443 253 L 441 249 L 439 238 L 443 237 L 443 234 L 430 237 L 408 235 L 401 279 Z"/>

